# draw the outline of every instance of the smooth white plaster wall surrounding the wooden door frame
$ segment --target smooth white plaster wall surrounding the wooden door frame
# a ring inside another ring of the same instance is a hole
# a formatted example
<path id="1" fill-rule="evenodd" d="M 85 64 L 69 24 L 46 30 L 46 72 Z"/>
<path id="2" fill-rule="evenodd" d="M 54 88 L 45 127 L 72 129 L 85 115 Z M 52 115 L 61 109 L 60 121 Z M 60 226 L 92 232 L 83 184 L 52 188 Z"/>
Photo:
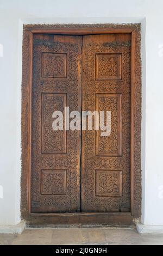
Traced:
<path id="1" fill-rule="evenodd" d="M 0 225 L 20 222 L 22 24 L 112 22 L 142 23 L 142 222 L 163 225 L 162 13 L 162 0 L 0 0 Z"/>

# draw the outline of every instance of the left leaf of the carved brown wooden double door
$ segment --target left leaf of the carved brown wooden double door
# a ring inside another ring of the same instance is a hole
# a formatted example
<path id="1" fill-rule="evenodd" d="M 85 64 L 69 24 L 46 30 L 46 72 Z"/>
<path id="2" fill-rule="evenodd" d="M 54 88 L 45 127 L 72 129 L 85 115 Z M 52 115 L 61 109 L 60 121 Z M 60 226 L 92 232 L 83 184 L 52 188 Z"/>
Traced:
<path id="1" fill-rule="evenodd" d="M 82 37 L 35 34 L 31 212 L 80 211 L 80 131 L 54 131 L 52 114 L 81 111 Z"/>

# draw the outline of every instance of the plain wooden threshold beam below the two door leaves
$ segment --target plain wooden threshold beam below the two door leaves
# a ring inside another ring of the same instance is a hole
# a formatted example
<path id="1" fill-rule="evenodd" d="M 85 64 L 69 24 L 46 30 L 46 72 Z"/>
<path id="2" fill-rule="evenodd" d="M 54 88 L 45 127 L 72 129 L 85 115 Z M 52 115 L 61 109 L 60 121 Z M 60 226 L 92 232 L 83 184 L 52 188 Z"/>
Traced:
<path id="1" fill-rule="evenodd" d="M 28 226 L 41 225 L 131 225 L 130 212 L 79 212 L 67 214 L 30 214 Z"/>

